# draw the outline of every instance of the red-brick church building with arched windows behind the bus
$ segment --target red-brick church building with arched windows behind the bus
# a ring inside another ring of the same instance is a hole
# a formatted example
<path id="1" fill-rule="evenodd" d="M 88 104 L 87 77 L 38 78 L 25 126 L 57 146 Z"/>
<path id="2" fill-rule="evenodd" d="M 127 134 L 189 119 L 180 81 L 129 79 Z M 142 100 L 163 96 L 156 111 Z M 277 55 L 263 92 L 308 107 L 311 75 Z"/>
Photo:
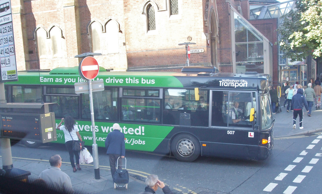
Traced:
<path id="1" fill-rule="evenodd" d="M 93 52 L 116 71 L 257 71 L 278 80 L 277 19 L 249 20 L 275 0 L 11 0 L 18 70 L 78 66 Z M 256 27 L 256 28 L 255 28 Z"/>

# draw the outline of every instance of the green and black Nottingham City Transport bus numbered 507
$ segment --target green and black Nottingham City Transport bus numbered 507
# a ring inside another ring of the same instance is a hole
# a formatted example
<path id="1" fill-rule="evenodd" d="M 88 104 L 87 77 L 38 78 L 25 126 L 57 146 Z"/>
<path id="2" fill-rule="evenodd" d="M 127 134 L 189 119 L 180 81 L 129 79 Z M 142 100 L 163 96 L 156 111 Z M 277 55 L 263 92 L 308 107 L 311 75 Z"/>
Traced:
<path id="1" fill-rule="evenodd" d="M 105 90 L 93 93 L 96 143 L 119 123 L 128 150 L 174 155 L 192 162 L 198 156 L 265 160 L 273 148 L 270 76 L 218 73 L 215 67 L 184 67 L 181 73 L 109 72 L 95 80 Z M 92 144 L 89 94 L 76 94 L 84 82 L 78 67 L 21 71 L 5 83 L 7 102 L 52 102 L 56 125 L 71 115 Z M 25 139 L 30 147 L 38 143 Z M 57 130 L 57 143 L 64 143 Z"/>

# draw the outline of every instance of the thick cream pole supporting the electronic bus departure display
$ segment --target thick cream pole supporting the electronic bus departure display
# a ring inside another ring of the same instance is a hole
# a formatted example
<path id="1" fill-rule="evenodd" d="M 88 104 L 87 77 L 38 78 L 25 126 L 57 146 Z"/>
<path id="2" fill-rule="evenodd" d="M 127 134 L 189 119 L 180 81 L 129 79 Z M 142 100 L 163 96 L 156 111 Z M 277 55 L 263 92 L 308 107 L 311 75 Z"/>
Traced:
<path id="1" fill-rule="evenodd" d="M 5 100 L 5 84 L 0 83 L 0 103 L 6 103 Z M 2 155 L 2 168 L 11 169 L 14 167 L 12 164 L 12 154 L 11 154 L 11 145 L 10 139 L 0 138 L 0 150 Z"/>

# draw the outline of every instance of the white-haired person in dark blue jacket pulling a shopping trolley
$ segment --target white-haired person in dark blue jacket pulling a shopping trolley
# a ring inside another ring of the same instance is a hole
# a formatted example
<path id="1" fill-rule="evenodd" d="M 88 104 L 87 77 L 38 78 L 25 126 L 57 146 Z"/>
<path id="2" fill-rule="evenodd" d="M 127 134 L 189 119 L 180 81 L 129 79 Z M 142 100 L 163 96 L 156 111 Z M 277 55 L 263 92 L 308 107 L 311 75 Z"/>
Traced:
<path id="1" fill-rule="evenodd" d="M 109 155 L 109 166 L 111 167 L 112 177 L 116 171 L 116 160 L 121 156 L 118 160 L 118 169 L 122 169 L 122 158 L 125 156 L 124 133 L 120 129 L 119 124 L 115 123 L 113 125 L 113 131 L 109 132 L 105 139 L 106 154 Z"/>

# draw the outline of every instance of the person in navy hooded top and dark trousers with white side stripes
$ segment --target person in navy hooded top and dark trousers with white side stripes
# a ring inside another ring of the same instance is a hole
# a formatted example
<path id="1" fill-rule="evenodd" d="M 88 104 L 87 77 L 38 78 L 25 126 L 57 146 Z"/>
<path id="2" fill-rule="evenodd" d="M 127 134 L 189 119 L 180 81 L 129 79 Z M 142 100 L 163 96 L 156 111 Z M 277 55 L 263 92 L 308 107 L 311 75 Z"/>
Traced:
<path id="1" fill-rule="evenodd" d="M 306 101 L 305 96 L 303 96 L 303 90 L 298 89 L 297 93 L 292 97 L 292 106 L 293 106 L 293 129 L 296 127 L 296 118 L 299 116 L 300 119 L 300 129 L 302 127 L 303 121 L 303 105 L 308 111 L 308 102 Z"/>

